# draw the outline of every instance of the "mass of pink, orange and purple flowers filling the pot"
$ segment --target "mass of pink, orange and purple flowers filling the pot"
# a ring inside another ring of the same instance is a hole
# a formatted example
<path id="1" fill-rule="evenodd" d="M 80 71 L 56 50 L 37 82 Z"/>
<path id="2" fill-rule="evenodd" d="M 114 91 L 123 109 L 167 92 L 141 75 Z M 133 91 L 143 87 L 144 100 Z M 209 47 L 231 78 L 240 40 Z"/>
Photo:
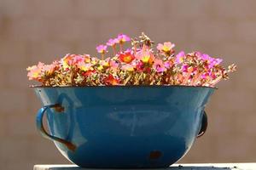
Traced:
<path id="1" fill-rule="evenodd" d="M 131 48 L 125 48 L 131 42 Z M 172 42 L 154 42 L 142 33 L 139 38 L 119 34 L 96 47 L 100 58 L 89 54 L 67 54 L 50 65 L 39 62 L 27 68 L 29 80 L 46 87 L 61 86 L 126 86 L 183 85 L 214 87 L 228 79 L 236 65 L 225 69 L 222 59 L 208 54 L 183 51 L 175 54 Z M 110 49 L 109 49 L 110 48 Z M 111 54 L 108 50 L 113 51 Z M 107 57 L 112 56 L 112 57 Z"/>

